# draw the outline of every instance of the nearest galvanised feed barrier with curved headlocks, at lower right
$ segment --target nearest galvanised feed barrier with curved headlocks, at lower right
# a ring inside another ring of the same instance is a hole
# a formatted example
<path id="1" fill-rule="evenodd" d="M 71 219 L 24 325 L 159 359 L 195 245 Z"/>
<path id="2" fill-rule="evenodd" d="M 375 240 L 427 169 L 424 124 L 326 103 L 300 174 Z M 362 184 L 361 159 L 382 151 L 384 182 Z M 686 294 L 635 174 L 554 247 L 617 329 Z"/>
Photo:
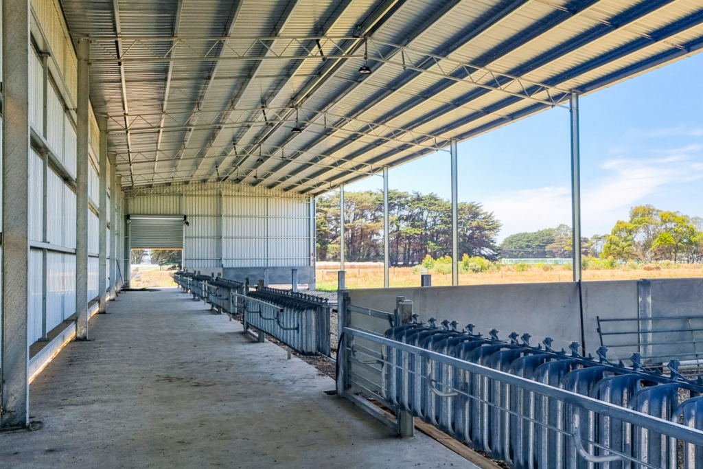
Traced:
<path id="1" fill-rule="evenodd" d="M 340 292 L 337 393 L 396 413 L 410 435 L 421 418 L 516 469 L 703 469 L 703 381 L 534 347 L 529 335 L 500 340 L 473 326 L 418 323 L 399 297 L 394 314 L 349 304 Z M 387 419 L 386 419 L 387 420 Z"/>

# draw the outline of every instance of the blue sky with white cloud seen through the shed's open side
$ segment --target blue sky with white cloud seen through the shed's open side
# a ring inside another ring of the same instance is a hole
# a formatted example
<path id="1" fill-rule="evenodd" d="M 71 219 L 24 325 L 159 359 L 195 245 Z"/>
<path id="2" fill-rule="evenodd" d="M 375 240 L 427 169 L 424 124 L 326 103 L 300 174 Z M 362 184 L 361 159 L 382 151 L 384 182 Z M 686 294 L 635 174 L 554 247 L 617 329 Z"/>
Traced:
<path id="1" fill-rule="evenodd" d="M 703 217 L 703 54 L 583 96 L 583 235 L 609 233 L 633 205 Z M 515 122 L 458 146 L 459 200 L 512 233 L 571 225 L 569 111 Z M 389 170 L 389 186 L 450 197 L 449 154 Z M 382 187 L 380 176 L 347 191 Z"/>

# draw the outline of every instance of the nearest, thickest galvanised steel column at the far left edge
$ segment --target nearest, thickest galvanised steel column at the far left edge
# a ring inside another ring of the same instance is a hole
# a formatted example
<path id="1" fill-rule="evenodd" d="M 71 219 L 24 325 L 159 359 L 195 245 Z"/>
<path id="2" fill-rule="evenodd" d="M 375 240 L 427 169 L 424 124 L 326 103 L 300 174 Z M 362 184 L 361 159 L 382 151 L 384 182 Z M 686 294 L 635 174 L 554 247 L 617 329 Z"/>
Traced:
<path id="1" fill-rule="evenodd" d="M 0 429 L 29 424 L 27 274 L 29 256 L 30 2 L 2 2 L 3 226 Z"/>

